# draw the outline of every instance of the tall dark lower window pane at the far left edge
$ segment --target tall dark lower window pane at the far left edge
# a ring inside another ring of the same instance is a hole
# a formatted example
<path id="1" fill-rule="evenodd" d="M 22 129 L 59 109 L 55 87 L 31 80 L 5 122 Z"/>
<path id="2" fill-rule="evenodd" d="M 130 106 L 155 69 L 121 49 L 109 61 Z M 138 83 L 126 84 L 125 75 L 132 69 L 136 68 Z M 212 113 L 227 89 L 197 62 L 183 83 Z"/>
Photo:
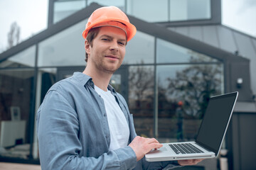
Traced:
<path id="1" fill-rule="evenodd" d="M 33 79 L 32 69 L 0 71 L 1 157 L 29 157 Z"/>

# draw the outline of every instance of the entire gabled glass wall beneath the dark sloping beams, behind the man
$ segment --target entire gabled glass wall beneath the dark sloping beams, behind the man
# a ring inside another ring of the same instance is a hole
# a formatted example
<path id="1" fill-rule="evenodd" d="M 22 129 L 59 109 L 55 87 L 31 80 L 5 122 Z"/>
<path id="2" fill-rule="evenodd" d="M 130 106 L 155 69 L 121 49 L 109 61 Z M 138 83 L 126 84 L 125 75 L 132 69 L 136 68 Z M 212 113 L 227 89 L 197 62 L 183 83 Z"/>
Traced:
<path id="1" fill-rule="evenodd" d="M 50 86 L 85 68 L 86 22 L 0 63 L 1 157 L 38 159 L 36 110 Z M 138 30 L 110 84 L 127 100 L 138 135 L 161 142 L 192 140 L 207 98 L 224 91 L 223 67 L 213 57 Z"/>

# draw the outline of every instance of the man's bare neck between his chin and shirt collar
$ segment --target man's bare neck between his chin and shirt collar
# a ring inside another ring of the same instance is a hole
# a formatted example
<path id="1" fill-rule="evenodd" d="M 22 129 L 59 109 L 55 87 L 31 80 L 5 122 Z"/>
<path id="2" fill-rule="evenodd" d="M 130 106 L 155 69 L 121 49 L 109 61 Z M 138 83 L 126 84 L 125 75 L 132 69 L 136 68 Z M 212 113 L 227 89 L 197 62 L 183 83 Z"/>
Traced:
<path id="1" fill-rule="evenodd" d="M 110 83 L 112 73 L 99 71 L 98 69 L 91 69 L 88 65 L 82 73 L 92 77 L 92 81 L 97 87 L 107 91 L 107 86 Z"/>

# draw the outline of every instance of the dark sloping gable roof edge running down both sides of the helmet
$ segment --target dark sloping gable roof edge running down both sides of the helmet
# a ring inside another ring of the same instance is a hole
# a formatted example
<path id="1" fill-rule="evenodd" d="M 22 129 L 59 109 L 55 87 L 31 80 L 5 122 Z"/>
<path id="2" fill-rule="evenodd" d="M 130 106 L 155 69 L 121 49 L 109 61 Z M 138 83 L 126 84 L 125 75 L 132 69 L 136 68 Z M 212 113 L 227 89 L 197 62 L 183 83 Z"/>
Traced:
<path id="1" fill-rule="evenodd" d="M 46 30 L 43 30 L 41 33 L 38 33 L 37 35 L 34 35 L 28 40 L 25 40 L 20 44 L 16 45 L 15 47 L 12 47 L 11 49 L 1 53 L 0 62 L 6 60 L 7 58 L 15 55 L 18 52 L 21 52 L 22 50 L 25 50 L 27 47 L 31 47 L 31 45 L 35 45 L 36 43 L 41 42 L 42 40 L 45 40 L 46 38 L 49 38 L 50 36 L 55 35 L 56 33 L 59 33 L 61 30 L 65 30 L 66 28 L 73 26 L 75 23 L 78 23 L 84 20 L 85 18 L 88 18 L 90 14 L 93 11 L 95 11 L 96 8 L 100 7 L 100 5 L 92 3 L 90 4 L 90 6 L 82 8 L 82 10 L 74 13 L 71 16 L 68 16 L 68 18 L 65 18 L 62 21 L 55 23 L 52 26 L 49 26 Z M 247 60 L 240 56 L 233 55 L 233 52 L 227 52 L 218 47 L 208 45 L 208 43 L 205 42 L 200 42 L 197 40 L 195 41 L 193 38 L 176 33 L 177 31 L 168 30 L 164 26 L 159 26 L 154 23 L 147 23 L 133 16 L 127 16 L 129 17 L 131 23 L 134 23 L 136 25 L 137 30 L 140 30 L 144 33 L 148 33 L 149 35 L 156 36 L 157 38 L 162 38 L 164 40 L 174 42 L 177 45 L 182 45 L 183 47 L 187 47 L 191 50 L 195 50 L 196 52 L 201 52 L 211 57 L 218 58 L 218 60 L 222 61 L 228 58 L 232 58 L 233 60 L 237 61 Z"/>

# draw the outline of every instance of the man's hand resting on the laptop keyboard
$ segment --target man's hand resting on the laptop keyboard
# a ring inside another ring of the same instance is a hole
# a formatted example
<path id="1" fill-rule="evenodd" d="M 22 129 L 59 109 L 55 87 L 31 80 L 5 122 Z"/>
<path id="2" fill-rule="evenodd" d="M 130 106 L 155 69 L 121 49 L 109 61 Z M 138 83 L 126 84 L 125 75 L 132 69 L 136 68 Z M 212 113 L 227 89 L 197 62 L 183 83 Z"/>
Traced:
<path id="1" fill-rule="evenodd" d="M 136 154 L 137 161 L 139 161 L 145 156 L 146 153 L 151 151 L 151 149 L 158 149 L 160 147 L 163 147 L 163 145 L 161 145 L 154 138 L 145 138 L 137 136 L 129 144 L 129 147 L 132 147 Z"/>

